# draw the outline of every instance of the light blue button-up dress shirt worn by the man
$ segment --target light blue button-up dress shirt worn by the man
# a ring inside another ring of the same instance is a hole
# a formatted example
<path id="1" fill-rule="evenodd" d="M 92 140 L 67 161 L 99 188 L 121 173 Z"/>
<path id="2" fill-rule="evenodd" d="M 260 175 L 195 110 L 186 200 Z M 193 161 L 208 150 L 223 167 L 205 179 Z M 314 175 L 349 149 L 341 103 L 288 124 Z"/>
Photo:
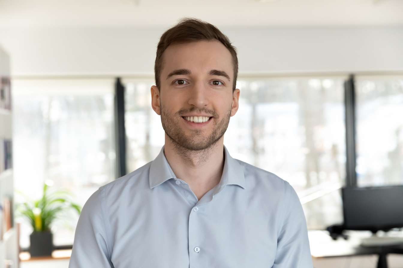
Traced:
<path id="1" fill-rule="evenodd" d="M 312 268 L 298 196 L 276 175 L 231 158 L 200 200 L 162 148 L 84 205 L 69 268 Z"/>

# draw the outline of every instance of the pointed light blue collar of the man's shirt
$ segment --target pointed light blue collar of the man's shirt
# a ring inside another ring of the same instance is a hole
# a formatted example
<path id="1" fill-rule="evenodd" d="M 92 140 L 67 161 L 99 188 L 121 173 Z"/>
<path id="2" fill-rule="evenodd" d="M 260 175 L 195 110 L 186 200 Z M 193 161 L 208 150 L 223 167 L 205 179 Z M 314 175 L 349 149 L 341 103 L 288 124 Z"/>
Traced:
<path id="1" fill-rule="evenodd" d="M 245 189 L 245 176 L 241 165 L 237 160 L 231 157 L 225 146 L 224 155 L 224 169 L 222 170 L 222 176 L 220 183 L 218 184 L 217 192 L 220 192 L 228 184 L 239 185 Z M 149 176 L 150 188 L 154 188 L 172 178 L 176 177 L 169 166 L 168 161 L 166 161 L 164 147 L 162 147 L 156 159 L 151 162 Z"/>

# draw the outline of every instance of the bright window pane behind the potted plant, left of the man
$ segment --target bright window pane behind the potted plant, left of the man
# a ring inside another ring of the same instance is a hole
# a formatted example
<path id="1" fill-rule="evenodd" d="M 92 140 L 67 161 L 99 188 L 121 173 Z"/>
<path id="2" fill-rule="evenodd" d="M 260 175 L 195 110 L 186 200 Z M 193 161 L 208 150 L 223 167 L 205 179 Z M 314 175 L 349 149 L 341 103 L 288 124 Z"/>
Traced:
<path id="1" fill-rule="evenodd" d="M 84 205 L 100 186 L 114 180 L 113 83 L 112 79 L 12 82 L 17 190 L 38 198 L 44 181 L 52 180 L 54 187 L 71 190 L 75 202 Z M 77 219 L 71 218 L 70 225 L 75 226 Z M 22 248 L 29 246 L 31 231 L 28 224 L 21 225 Z M 58 222 L 52 231 L 55 245 L 73 244 L 74 229 Z"/>

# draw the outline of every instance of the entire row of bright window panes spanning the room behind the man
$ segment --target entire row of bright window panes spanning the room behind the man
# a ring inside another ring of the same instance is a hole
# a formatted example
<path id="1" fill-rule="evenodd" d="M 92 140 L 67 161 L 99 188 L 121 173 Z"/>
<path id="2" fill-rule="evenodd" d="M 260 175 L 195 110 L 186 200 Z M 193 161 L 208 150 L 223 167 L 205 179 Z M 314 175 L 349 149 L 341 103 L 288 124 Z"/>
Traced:
<path id="1" fill-rule="evenodd" d="M 224 144 L 234 158 L 273 172 L 297 191 L 309 229 L 341 223 L 345 150 L 345 77 L 241 79 L 237 114 Z M 164 145 L 151 107 L 153 80 L 123 80 L 127 172 Z M 114 80 L 14 80 L 15 188 L 37 198 L 45 180 L 68 188 L 83 205 L 115 178 Z M 357 185 L 403 183 L 403 78 L 358 77 Z M 370 135 L 369 135 L 370 134 Z M 19 200 L 16 199 L 18 203 Z M 77 217 L 71 219 L 75 226 Z M 54 227 L 55 245 L 74 229 Z M 57 231 L 56 231 L 57 229 Z M 21 246 L 29 245 L 29 225 Z"/>

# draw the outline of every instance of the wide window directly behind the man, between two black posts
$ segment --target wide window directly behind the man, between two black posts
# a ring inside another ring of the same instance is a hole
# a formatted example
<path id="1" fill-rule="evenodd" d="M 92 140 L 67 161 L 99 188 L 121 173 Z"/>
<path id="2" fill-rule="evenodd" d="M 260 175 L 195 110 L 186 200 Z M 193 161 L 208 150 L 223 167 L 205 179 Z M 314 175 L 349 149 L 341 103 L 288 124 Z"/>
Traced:
<path id="1" fill-rule="evenodd" d="M 287 180 L 303 203 L 310 229 L 343 221 L 345 78 L 239 80 L 240 106 L 224 144 L 234 158 Z M 152 161 L 164 145 L 151 108 L 153 81 L 125 80 L 128 172 Z"/>

